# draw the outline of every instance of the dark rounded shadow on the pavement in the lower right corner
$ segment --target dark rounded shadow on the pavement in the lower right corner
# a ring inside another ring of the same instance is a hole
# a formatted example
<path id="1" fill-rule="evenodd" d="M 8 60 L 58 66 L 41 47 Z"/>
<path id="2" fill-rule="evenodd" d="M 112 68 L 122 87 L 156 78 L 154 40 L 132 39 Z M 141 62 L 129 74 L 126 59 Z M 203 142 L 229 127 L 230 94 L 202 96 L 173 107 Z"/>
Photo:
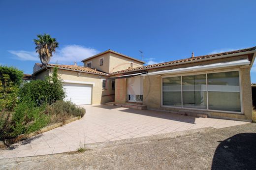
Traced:
<path id="1" fill-rule="evenodd" d="M 241 133 L 220 142 L 212 170 L 256 170 L 256 133 Z"/>

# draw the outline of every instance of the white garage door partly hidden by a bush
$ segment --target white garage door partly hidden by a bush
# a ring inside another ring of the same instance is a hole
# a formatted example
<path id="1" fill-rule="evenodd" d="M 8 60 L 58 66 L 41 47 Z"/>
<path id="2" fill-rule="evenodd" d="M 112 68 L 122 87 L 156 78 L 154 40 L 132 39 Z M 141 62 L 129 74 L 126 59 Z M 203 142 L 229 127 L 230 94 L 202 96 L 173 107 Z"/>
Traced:
<path id="1" fill-rule="evenodd" d="M 90 105 L 92 99 L 92 85 L 64 83 L 66 100 L 76 105 Z"/>

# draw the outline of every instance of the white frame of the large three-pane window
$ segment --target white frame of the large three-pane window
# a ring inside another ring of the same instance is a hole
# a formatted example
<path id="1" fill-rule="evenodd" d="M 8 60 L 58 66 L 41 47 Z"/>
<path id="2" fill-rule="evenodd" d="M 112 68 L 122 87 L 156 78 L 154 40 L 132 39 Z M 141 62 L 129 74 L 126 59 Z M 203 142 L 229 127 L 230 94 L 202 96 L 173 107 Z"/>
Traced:
<path id="1" fill-rule="evenodd" d="M 208 103 L 208 77 L 207 77 L 207 74 L 209 74 L 209 73 L 231 72 L 231 71 L 238 71 L 241 112 L 210 110 L 209 109 L 209 103 Z M 181 76 L 181 91 L 182 91 L 182 78 L 183 78 L 183 76 L 200 75 L 200 74 L 206 74 L 207 109 L 197 109 L 197 108 L 186 108 L 186 107 L 183 107 L 183 95 L 181 95 L 181 101 L 182 101 L 181 107 L 166 106 L 166 105 L 162 104 L 162 102 L 163 102 L 162 101 L 162 79 L 163 78 L 179 77 L 179 76 Z M 197 72 L 197 73 L 184 73 L 184 74 L 174 74 L 174 75 L 161 76 L 161 78 L 160 78 L 160 107 L 163 107 L 163 108 L 173 108 L 173 109 L 184 109 L 184 110 L 195 110 L 195 111 L 208 111 L 208 112 L 243 114 L 244 111 L 243 111 L 243 93 L 242 93 L 242 84 L 241 84 L 241 70 L 240 69 L 226 69 L 226 70 L 219 70 L 219 71 L 204 71 L 204 72 Z"/>

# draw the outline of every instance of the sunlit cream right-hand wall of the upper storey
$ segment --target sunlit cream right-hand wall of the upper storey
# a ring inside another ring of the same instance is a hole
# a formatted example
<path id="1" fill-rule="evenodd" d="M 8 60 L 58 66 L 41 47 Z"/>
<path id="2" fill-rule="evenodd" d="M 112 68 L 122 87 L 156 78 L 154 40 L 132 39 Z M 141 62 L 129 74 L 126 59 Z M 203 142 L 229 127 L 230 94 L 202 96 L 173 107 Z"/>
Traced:
<path id="1" fill-rule="evenodd" d="M 141 62 L 110 53 L 109 73 L 128 69 L 130 67 L 130 62 L 133 62 L 133 68 L 143 66 L 143 63 Z"/>

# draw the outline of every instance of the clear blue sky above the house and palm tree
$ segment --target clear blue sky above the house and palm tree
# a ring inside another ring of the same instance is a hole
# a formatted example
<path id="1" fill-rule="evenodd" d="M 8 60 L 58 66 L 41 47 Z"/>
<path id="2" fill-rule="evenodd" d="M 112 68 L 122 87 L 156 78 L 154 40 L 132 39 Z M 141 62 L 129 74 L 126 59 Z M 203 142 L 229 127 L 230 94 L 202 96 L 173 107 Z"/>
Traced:
<path id="1" fill-rule="evenodd" d="M 148 63 L 256 46 L 256 0 L 0 0 L 0 64 L 32 73 L 33 39 L 73 64 L 112 49 Z M 256 67 L 252 69 L 256 83 Z"/>

